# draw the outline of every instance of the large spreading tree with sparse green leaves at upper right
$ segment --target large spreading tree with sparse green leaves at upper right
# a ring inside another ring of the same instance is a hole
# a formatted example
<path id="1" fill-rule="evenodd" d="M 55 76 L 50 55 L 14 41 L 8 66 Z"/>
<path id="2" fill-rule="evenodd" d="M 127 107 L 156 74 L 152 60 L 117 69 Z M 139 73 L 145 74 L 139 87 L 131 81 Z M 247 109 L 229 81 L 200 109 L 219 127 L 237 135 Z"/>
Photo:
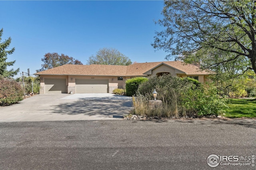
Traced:
<path id="1" fill-rule="evenodd" d="M 170 53 L 166 59 L 197 58 L 205 68 L 242 62 L 238 70 L 256 73 L 256 1 L 182 0 L 164 5 L 164 17 L 156 23 L 165 29 L 156 32 L 152 46 Z"/>

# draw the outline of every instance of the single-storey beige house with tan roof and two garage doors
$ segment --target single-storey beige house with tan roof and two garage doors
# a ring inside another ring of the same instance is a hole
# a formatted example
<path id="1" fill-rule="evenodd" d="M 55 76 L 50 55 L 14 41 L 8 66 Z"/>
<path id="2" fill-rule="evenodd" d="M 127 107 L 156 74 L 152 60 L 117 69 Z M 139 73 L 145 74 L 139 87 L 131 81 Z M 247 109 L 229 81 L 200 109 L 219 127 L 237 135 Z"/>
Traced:
<path id="1" fill-rule="evenodd" d="M 74 65 L 58 66 L 35 75 L 40 76 L 40 94 L 52 93 L 112 93 L 123 88 L 125 80 L 136 76 L 172 74 L 190 76 L 205 82 L 210 74 L 200 71 L 198 66 L 181 61 L 134 63 L 129 66 L 117 65 Z"/>

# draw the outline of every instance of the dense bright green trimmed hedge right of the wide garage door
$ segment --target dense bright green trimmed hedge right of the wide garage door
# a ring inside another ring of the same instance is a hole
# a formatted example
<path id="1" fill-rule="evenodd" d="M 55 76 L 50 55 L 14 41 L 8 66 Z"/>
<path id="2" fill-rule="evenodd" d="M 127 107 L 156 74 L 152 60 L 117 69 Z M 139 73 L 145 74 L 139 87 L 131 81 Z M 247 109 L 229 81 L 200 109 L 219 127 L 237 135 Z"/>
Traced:
<path id="1" fill-rule="evenodd" d="M 138 90 L 139 85 L 142 82 L 146 82 L 146 81 L 148 81 L 148 78 L 146 77 L 134 77 L 126 80 L 126 95 L 132 96 L 136 94 L 136 91 Z"/>

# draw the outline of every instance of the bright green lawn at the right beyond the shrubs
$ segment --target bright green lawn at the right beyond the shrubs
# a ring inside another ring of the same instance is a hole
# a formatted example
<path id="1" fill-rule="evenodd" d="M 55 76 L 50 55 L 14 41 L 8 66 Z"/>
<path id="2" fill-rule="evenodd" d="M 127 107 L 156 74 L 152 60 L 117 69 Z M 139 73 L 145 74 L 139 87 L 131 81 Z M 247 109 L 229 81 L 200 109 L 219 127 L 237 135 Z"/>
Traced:
<path id="1" fill-rule="evenodd" d="M 228 99 L 225 117 L 256 117 L 256 100 L 251 99 Z"/>

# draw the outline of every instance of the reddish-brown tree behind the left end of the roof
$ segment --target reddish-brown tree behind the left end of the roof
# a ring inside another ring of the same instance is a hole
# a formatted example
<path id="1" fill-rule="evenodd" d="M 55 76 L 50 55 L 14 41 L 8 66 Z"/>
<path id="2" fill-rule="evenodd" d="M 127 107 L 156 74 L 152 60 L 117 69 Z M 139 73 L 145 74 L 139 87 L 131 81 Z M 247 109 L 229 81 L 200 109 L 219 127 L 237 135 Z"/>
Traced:
<path id="1" fill-rule="evenodd" d="M 44 58 L 41 59 L 44 64 L 41 64 L 42 68 L 36 70 L 36 72 L 44 71 L 50 68 L 62 66 L 65 64 L 82 64 L 81 61 L 68 57 L 68 55 L 58 55 L 58 53 L 46 53 Z"/>

